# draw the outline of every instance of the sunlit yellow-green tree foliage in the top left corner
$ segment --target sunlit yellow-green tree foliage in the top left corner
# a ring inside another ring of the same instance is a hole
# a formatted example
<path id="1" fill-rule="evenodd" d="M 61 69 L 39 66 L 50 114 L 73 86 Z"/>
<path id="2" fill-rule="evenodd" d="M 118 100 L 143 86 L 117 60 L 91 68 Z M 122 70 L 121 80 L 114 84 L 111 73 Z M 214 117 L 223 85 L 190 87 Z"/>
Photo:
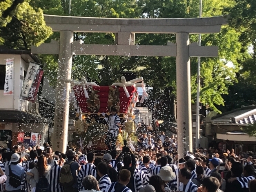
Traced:
<path id="1" fill-rule="evenodd" d="M 45 25 L 42 9 L 35 11 L 29 0 L 0 1 L 0 43 L 13 49 L 29 50 L 52 34 Z"/>

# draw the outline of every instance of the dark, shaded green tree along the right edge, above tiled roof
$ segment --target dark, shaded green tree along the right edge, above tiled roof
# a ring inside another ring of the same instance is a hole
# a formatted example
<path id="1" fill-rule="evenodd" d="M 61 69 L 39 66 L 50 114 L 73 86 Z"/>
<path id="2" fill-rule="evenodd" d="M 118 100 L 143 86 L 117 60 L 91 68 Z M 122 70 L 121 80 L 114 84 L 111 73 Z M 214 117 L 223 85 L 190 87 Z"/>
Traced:
<path id="1" fill-rule="evenodd" d="M 224 11 L 230 13 L 230 26 L 239 33 L 239 42 L 242 58 L 238 59 L 236 83 L 229 86 L 229 94 L 223 96 L 224 107 L 218 107 L 221 111 L 229 111 L 240 108 L 241 105 L 253 105 L 256 103 L 256 55 L 255 55 L 255 18 L 256 2 L 253 0 L 235 0 L 233 7 Z"/>

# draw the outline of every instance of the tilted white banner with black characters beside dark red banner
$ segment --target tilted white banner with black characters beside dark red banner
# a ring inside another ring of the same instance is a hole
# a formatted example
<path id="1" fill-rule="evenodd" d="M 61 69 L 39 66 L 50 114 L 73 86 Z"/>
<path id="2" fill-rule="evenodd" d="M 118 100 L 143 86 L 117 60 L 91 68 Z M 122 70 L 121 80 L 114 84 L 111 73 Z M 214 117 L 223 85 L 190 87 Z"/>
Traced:
<path id="1" fill-rule="evenodd" d="M 25 80 L 23 82 L 21 96 L 22 97 L 29 97 L 29 92 L 31 90 L 31 87 L 33 85 L 34 79 L 36 78 L 36 75 L 38 73 L 40 65 L 36 63 L 29 62 L 29 68 L 27 69 L 27 74 L 25 77 Z"/>

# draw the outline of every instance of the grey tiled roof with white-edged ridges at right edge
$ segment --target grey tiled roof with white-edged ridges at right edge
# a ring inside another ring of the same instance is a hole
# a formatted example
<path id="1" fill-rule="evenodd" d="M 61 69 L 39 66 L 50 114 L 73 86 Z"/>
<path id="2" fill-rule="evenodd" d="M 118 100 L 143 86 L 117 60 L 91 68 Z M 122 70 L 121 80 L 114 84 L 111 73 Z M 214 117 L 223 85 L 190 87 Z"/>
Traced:
<path id="1" fill-rule="evenodd" d="M 212 123 L 235 123 L 241 125 L 256 123 L 256 105 L 242 106 L 212 118 Z"/>

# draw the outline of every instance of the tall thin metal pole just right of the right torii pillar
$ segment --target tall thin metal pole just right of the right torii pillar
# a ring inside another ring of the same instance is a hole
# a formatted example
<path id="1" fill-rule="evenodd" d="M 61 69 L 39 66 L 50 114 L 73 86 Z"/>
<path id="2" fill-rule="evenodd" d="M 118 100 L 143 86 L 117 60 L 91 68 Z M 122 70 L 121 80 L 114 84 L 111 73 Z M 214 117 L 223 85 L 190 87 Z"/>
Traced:
<path id="1" fill-rule="evenodd" d="M 202 0 L 199 0 L 199 18 L 202 17 Z M 201 34 L 198 36 L 198 46 L 201 46 Z M 195 148 L 200 147 L 200 63 L 198 57 L 197 65 L 197 93 L 196 93 L 196 144 Z"/>

